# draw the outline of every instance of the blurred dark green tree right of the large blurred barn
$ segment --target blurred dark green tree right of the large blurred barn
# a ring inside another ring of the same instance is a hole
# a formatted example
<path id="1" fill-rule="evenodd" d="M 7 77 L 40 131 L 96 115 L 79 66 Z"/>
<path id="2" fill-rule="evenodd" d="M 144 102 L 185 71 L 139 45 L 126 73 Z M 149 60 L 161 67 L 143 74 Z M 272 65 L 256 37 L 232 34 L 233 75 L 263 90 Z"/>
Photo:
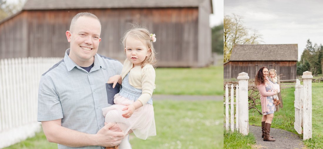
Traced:
<path id="1" fill-rule="evenodd" d="M 212 52 L 223 54 L 223 24 L 212 27 Z"/>

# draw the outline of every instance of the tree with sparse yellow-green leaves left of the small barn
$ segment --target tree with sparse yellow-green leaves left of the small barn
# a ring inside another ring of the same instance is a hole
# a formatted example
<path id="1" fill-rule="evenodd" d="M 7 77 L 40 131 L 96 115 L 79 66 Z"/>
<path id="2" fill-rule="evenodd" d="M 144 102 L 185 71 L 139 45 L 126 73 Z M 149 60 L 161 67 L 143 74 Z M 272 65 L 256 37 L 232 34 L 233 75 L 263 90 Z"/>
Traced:
<path id="1" fill-rule="evenodd" d="M 224 16 L 224 62 L 230 59 L 235 44 L 259 44 L 263 42 L 256 30 L 244 27 L 242 16 L 233 14 Z"/>

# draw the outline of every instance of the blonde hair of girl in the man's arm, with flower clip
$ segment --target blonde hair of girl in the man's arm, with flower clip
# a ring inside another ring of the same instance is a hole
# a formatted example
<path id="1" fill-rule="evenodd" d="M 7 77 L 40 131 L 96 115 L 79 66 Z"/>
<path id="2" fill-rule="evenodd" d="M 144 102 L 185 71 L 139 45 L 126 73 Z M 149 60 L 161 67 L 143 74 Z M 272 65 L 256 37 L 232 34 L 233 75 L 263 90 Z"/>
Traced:
<path id="1" fill-rule="evenodd" d="M 128 30 L 121 39 L 124 48 L 126 47 L 126 40 L 129 36 L 142 41 L 142 43 L 147 45 L 148 49 L 151 49 L 150 55 L 146 57 L 145 60 L 142 62 L 141 68 L 144 67 L 145 64 L 151 64 L 153 67 L 155 67 L 155 64 L 157 62 L 156 52 L 152 44 L 152 41 L 150 40 L 151 38 L 149 30 L 143 27 L 133 27 L 132 29 Z"/>

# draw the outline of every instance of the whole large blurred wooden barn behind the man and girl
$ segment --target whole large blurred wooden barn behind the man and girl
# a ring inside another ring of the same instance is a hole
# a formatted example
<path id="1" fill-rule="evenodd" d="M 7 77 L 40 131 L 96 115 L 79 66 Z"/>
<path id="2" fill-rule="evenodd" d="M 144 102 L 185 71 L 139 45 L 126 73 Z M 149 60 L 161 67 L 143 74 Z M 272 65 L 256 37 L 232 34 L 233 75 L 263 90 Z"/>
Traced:
<path id="1" fill-rule="evenodd" d="M 0 59 L 63 57 L 65 32 L 79 12 L 100 19 L 99 54 L 123 62 L 120 38 L 138 22 L 156 34 L 159 67 L 211 63 L 212 0 L 27 0 L 21 12 L 0 22 Z"/>

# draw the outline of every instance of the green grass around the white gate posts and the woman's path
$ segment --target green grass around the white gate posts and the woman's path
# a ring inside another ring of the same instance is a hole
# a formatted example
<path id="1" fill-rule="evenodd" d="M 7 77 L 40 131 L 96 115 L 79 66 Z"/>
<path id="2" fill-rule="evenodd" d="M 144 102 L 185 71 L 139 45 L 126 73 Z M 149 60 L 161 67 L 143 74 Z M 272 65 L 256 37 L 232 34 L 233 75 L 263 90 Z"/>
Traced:
<path id="1" fill-rule="evenodd" d="M 303 138 L 301 134 L 298 134 L 294 129 L 295 122 L 295 108 L 294 108 L 294 95 L 295 88 L 286 88 L 281 90 L 282 99 L 284 102 L 284 108 L 280 109 L 278 112 L 275 112 L 275 116 L 272 122 L 273 128 L 279 128 L 287 130 L 289 132 L 299 135 L 300 138 Z M 323 83 L 312 83 L 312 139 L 304 141 L 305 145 L 309 148 L 323 148 L 323 103 L 322 103 L 322 91 Z M 258 105 L 257 108 L 261 110 L 261 106 Z M 255 109 L 249 110 L 249 125 L 261 126 L 260 115 Z M 234 135 L 233 135 L 234 136 Z M 244 139 L 250 138 L 248 136 L 237 136 L 240 141 L 236 144 L 245 144 L 248 147 L 251 147 L 251 144 L 245 143 Z M 252 138 L 251 138 L 252 139 Z M 231 145 L 231 142 L 226 142 L 227 138 L 224 135 L 224 147 Z M 253 140 L 251 140 L 253 141 Z M 248 148 L 247 147 L 247 148 Z"/>

